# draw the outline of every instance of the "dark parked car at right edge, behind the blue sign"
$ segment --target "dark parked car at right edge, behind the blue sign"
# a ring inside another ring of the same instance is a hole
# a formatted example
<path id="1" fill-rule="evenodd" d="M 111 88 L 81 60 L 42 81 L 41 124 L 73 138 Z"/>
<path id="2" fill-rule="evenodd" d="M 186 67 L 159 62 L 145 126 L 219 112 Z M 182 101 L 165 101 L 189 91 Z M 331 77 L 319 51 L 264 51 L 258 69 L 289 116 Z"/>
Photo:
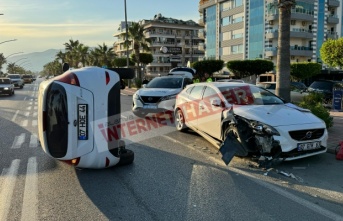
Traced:
<path id="1" fill-rule="evenodd" d="M 334 87 L 343 88 L 343 82 L 332 80 L 317 80 L 312 82 L 312 84 L 308 87 L 308 91 L 322 94 L 324 97 L 324 105 L 331 107 Z"/>

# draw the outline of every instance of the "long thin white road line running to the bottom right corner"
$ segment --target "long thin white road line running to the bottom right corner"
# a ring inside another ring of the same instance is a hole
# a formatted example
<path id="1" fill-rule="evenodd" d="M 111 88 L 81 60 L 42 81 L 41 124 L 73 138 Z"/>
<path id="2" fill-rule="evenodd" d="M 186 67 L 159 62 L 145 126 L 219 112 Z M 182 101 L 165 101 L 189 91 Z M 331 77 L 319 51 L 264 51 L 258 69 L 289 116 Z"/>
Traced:
<path id="1" fill-rule="evenodd" d="M 190 147 L 190 146 L 188 146 L 188 145 L 186 145 L 186 144 L 184 144 L 184 143 L 182 143 L 182 142 L 180 142 L 178 140 L 174 140 L 173 138 L 168 137 L 166 135 L 162 135 L 162 137 L 164 137 L 167 140 L 170 140 L 172 142 L 178 143 L 178 144 L 180 144 L 180 145 L 182 145 L 184 147 L 191 148 L 191 149 L 197 151 L 198 153 L 200 153 L 201 155 L 206 156 L 206 158 L 208 158 L 208 159 L 210 159 L 212 161 L 215 161 L 218 164 L 223 164 L 223 161 L 221 161 L 221 160 L 219 160 L 219 159 L 217 159 L 215 157 L 208 156 L 207 154 L 205 154 L 203 152 L 200 152 L 197 149 L 195 149 L 193 147 Z M 267 183 L 267 182 L 265 182 L 263 180 L 260 180 L 258 177 L 255 177 L 254 175 L 252 175 L 252 174 L 250 174 L 248 172 L 245 172 L 243 170 L 240 170 L 240 169 L 237 169 L 237 168 L 234 168 L 234 167 L 230 167 L 230 166 L 228 167 L 228 169 L 230 171 L 232 171 L 232 172 L 235 172 L 235 173 L 238 173 L 238 174 L 246 176 L 248 179 L 250 179 L 251 181 L 253 181 L 253 182 L 257 183 L 257 184 L 259 184 L 260 186 L 263 186 L 263 187 L 265 187 L 265 188 L 267 188 L 267 189 L 269 189 L 269 190 L 271 190 L 271 191 L 273 191 L 273 192 L 275 192 L 275 193 L 277 193 L 277 194 L 279 194 L 279 195 L 281 195 L 283 197 L 286 197 L 289 200 L 292 200 L 293 202 L 296 202 L 299 205 L 302 205 L 302 206 L 312 210 L 315 213 L 318 213 L 318 214 L 320 214 L 322 216 L 326 216 L 326 217 L 328 217 L 328 218 L 330 218 L 332 220 L 343 220 L 343 216 L 341 216 L 339 214 L 336 214 L 334 212 L 331 212 L 330 210 L 327 210 L 327 209 L 325 209 L 323 207 L 320 207 L 317 204 L 314 204 L 314 203 L 312 203 L 312 202 L 310 202 L 308 200 L 302 199 L 302 198 L 300 198 L 300 197 L 298 197 L 298 196 L 296 196 L 296 195 L 294 195 L 294 194 L 292 194 L 292 193 L 290 193 L 290 192 L 288 192 L 288 191 L 286 191 L 284 189 L 281 189 L 280 187 L 277 187 L 277 186 L 275 186 L 273 184 L 270 184 L 270 183 Z"/>

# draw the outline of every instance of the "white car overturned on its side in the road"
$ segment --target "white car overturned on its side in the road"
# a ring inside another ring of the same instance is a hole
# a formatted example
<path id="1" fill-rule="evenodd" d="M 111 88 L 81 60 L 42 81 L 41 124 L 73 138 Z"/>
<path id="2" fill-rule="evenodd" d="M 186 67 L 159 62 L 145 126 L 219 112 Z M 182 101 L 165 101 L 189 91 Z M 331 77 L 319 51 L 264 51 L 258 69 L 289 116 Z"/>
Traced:
<path id="1" fill-rule="evenodd" d="M 69 70 L 65 65 L 64 71 L 39 86 L 38 135 L 44 152 L 80 168 L 132 163 L 134 153 L 108 122 L 120 124 L 120 79 L 132 78 L 133 70 Z"/>

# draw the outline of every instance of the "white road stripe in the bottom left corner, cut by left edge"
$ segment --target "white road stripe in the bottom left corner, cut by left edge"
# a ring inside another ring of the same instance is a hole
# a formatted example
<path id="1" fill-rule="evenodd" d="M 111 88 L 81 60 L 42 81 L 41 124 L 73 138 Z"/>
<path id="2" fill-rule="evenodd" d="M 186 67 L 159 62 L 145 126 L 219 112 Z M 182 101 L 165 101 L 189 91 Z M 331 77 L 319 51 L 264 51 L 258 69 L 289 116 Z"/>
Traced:
<path id="1" fill-rule="evenodd" d="M 0 191 L 0 220 L 8 220 L 7 216 L 11 207 L 12 195 L 19 170 L 19 159 L 12 161 L 7 174 L 2 174 L 4 183 Z"/>

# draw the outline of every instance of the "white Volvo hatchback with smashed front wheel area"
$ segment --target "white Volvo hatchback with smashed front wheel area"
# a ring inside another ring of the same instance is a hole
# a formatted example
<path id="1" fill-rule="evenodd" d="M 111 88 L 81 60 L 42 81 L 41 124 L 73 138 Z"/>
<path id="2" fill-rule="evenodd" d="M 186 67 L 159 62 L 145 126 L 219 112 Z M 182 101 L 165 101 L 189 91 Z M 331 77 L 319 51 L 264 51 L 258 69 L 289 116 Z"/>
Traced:
<path id="1" fill-rule="evenodd" d="M 254 153 L 270 160 L 295 160 L 327 150 L 325 122 L 263 88 L 247 83 L 189 85 L 176 98 L 179 131 L 197 132 L 223 154 Z"/>

